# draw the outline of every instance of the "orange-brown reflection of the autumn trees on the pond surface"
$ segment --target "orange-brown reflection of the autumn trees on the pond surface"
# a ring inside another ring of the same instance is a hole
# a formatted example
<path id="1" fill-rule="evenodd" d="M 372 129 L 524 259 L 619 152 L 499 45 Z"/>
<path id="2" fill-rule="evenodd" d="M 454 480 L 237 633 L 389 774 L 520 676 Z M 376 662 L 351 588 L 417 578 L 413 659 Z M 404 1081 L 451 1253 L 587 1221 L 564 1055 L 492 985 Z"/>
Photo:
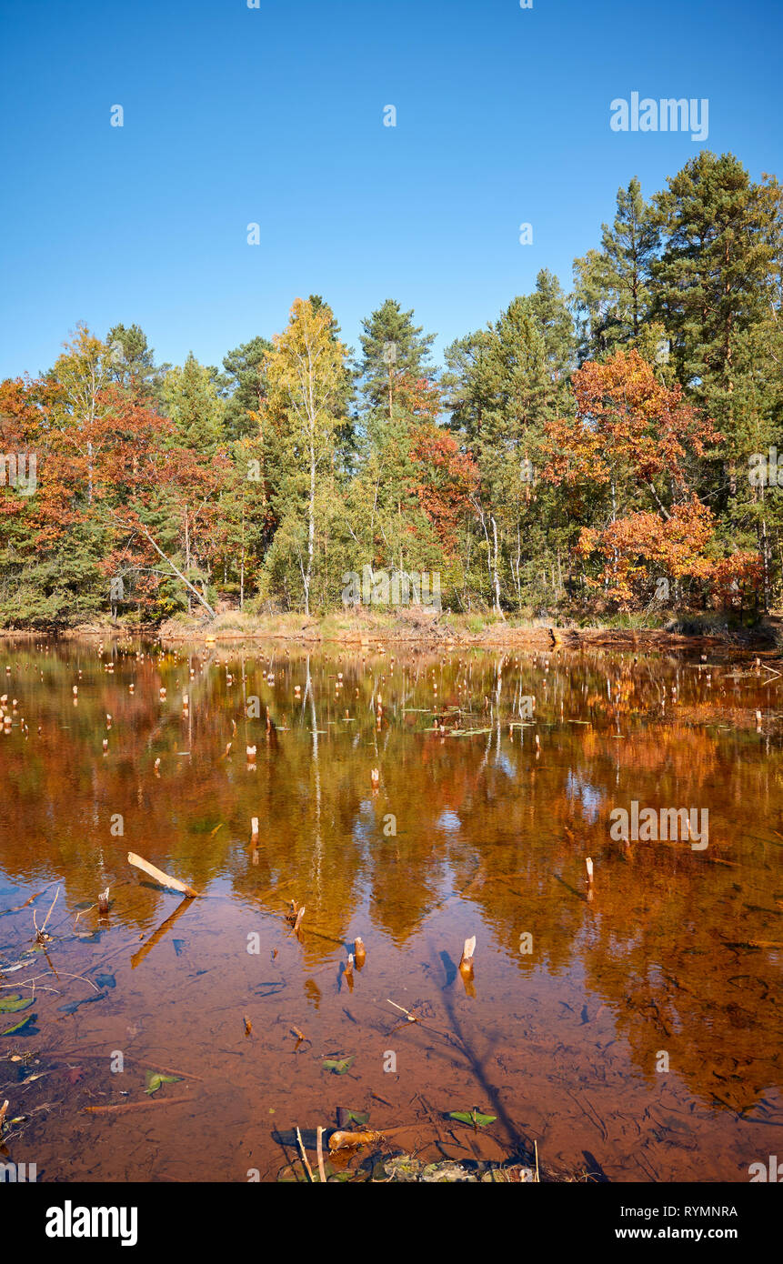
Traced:
<path id="1" fill-rule="evenodd" d="M 364 904 L 404 943 L 454 885 L 521 975 L 583 962 L 644 1076 L 665 1049 L 694 1092 L 735 1109 L 780 1083 L 773 1055 L 758 1054 L 779 1045 L 778 958 L 746 947 L 783 939 L 783 774 L 777 737 L 755 732 L 755 709 L 769 704 L 760 676 L 712 667 L 707 680 L 677 659 L 597 652 L 407 655 L 392 666 L 276 651 L 273 684 L 258 652 L 234 653 L 226 670 L 214 656 L 115 651 L 111 675 L 72 645 L 43 657 L 20 646 L 9 661 L 29 738 L 19 728 L 0 737 L 0 861 L 19 885 L 62 876 L 73 908 L 106 881 L 134 884 L 125 856 L 139 851 L 200 890 L 228 880 L 272 913 L 290 897 L 306 904 L 309 966 Z M 245 713 L 253 695 L 258 719 Z M 529 695 L 536 728 L 510 731 Z M 455 727 L 482 732 L 457 737 Z M 254 771 L 245 742 L 257 746 Z M 632 799 L 707 806 L 707 852 L 610 842 L 611 808 Z M 110 832 L 115 813 L 123 837 Z M 383 832 L 388 814 L 395 834 Z M 151 914 L 145 891 L 124 915 L 147 928 L 163 900 Z M 524 932 L 531 956 L 519 952 Z"/>

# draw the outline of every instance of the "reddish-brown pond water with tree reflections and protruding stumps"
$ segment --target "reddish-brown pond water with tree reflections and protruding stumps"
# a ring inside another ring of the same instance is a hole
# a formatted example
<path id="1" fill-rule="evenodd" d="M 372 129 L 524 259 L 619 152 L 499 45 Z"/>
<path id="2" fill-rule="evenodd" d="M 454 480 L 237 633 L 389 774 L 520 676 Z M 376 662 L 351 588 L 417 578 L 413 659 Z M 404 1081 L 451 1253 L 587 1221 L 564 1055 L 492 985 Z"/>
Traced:
<path id="1" fill-rule="evenodd" d="M 544 1178 L 748 1181 L 780 1152 L 780 679 L 712 653 L 144 648 L 0 651 L 0 999 L 34 1000 L 0 1014 L 32 1015 L 0 1036 L 4 1155 L 269 1181 L 340 1107 L 431 1159 L 535 1139 Z M 612 841 L 631 800 L 707 808 L 708 847 Z M 185 1078 L 145 1096 L 161 1068 Z M 496 1121 L 448 1119 L 473 1107 Z"/>

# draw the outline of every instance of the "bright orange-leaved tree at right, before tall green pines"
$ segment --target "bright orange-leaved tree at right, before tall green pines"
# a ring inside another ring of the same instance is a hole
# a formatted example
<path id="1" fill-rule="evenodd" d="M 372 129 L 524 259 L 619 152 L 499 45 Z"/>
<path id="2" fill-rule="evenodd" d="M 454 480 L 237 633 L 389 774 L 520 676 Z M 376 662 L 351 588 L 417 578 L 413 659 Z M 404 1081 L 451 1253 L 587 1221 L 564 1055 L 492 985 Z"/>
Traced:
<path id="1" fill-rule="evenodd" d="M 729 584 L 753 581 L 753 555 L 711 559 L 715 520 L 693 489 L 700 458 L 722 441 L 713 422 L 668 387 L 639 351 L 588 362 L 573 375 L 576 416 L 546 425 L 550 483 L 596 489 L 605 523 L 582 526 L 576 554 L 593 562 L 588 588 L 629 609 L 655 590 L 655 578 Z M 608 494 L 607 494 L 608 493 Z M 654 508 L 640 508 L 644 498 Z M 737 570 L 739 568 L 739 570 Z"/>

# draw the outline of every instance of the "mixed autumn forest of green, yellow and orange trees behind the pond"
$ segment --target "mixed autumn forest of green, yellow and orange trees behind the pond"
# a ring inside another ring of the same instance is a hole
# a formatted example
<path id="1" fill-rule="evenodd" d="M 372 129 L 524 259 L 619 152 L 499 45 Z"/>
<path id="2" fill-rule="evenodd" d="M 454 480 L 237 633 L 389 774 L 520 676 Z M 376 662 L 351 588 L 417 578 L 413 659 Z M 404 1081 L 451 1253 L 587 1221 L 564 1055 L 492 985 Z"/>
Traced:
<path id="1" fill-rule="evenodd" d="M 220 367 L 78 325 L 0 384 L 0 627 L 318 617 L 366 568 L 487 619 L 773 609 L 782 241 L 777 178 L 701 150 L 440 365 L 391 298 L 357 349 L 296 298 Z"/>

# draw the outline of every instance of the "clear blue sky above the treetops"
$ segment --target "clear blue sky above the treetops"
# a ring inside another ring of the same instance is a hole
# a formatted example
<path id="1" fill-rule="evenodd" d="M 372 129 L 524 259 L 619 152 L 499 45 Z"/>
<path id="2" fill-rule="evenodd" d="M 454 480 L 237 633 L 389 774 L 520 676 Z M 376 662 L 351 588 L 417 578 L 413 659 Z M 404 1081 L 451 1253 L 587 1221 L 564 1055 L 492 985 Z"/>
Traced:
<path id="1" fill-rule="evenodd" d="M 0 375 L 77 321 L 219 364 L 310 293 L 440 351 L 698 150 L 612 99 L 707 97 L 705 147 L 783 176 L 782 35 L 780 0 L 1 0 Z"/>

